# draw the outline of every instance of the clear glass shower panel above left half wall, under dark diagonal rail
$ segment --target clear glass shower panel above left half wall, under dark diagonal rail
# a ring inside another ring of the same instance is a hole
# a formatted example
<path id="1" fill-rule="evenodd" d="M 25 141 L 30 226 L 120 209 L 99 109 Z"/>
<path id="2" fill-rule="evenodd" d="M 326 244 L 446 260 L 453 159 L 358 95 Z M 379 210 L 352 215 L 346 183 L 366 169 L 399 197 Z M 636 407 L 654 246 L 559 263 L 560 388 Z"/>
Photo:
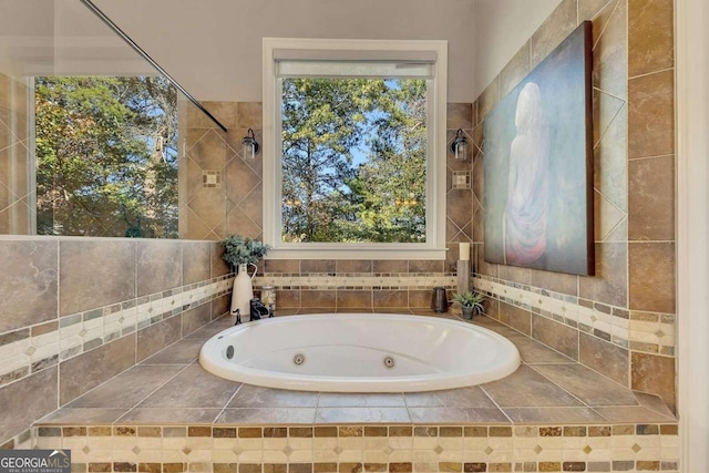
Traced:
<path id="1" fill-rule="evenodd" d="M 0 235 L 213 238 L 179 223 L 202 106 L 80 0 L 0 3 Z"/>

